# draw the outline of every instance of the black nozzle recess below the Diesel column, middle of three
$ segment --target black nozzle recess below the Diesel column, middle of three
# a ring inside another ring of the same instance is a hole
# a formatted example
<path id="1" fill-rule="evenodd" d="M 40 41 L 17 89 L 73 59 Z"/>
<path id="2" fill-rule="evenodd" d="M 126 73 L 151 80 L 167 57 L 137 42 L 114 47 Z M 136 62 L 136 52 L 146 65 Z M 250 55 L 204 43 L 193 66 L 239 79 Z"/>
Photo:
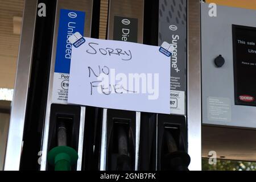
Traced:
<path id="1" fill-rule="evenodd" d="M 108 110 L 106 170 L 135 169 L 135 121 L 133 111 Z"/>

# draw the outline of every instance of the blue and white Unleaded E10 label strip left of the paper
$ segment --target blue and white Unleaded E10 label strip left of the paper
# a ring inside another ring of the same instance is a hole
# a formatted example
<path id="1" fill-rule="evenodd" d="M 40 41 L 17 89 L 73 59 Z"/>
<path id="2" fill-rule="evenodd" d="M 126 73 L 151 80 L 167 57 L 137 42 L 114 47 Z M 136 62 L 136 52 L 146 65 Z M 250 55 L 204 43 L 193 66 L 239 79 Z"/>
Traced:
<path id="1" fill-rule="evenodd" d="M 85 42 L 84 35 L 85 12 L 75 10 L 60 10 L 59 30 L 53 75 L 52 102 L 67 104 L 69 69 L 71 63 L 72 43 L 69 37 L 76 33 L 75 47 Z M 73 40 L 73 39 L 72 39 Z M 75 39 L 74 39 L 75 40 Z"/>

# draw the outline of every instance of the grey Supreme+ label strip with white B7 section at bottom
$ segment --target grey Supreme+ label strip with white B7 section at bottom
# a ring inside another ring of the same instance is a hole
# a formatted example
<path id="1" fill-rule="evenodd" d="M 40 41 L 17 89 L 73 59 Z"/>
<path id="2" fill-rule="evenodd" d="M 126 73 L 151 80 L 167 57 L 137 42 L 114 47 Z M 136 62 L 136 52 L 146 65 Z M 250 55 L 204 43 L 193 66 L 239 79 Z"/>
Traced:
<path id="1" fill-rule="evenodd" d="M 176 30 L 171 30 L 175 26 Z M 186 101 L 182 97 L 187 91 L 187 0 L 159 1 L 158 45 L 163 42 L 177 43 L 176 56 L 171 56 L 171 114 L 186 114 Z M 179 38 L 177 38 L 179 37 Z M 177 96 L 174 96 L 176 95 Z"/>

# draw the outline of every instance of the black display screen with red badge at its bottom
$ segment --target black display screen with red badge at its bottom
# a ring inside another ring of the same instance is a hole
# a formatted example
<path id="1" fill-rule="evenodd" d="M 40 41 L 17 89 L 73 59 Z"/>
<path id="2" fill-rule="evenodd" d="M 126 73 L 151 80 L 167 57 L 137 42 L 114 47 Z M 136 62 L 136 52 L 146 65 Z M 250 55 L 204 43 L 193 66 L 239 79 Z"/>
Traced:
<path id="1" fill-rule="evenodd" d="M 256 106 L 256 28 L 233 25 L 234 101 Z"/>

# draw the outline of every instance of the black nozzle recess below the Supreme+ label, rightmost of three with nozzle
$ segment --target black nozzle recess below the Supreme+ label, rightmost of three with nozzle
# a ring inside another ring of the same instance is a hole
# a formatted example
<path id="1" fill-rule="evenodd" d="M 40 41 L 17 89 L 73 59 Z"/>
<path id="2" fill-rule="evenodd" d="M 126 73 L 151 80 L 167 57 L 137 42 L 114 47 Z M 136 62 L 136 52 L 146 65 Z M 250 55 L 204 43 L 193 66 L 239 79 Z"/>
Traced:
<path id="1" fill-rule="evenodd" d="M 190 158 L 184 116 L 158 114 L 156 145 L 157 170 L 188 170 Z"/>

